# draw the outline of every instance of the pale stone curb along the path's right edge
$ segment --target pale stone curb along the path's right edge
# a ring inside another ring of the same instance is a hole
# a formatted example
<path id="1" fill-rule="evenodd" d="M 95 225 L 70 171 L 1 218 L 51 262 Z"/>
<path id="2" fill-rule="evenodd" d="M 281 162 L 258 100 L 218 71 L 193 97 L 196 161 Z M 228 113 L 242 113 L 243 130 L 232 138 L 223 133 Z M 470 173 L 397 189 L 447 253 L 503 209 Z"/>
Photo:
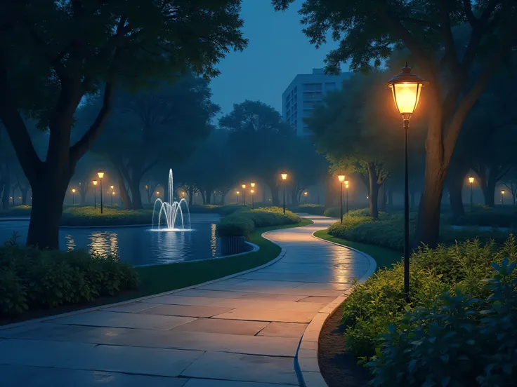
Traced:
<path id="1" fill-rule="evenodd" d="M 355 250 L 353 247 L 339 245 L 339 243 L 318 238 L 314 236 L 314 233 L 312 236 L 315 239 L 323 240 L 324 242 L 332 243 L 332 245 L 350 249 L 364 255 L 369 261 L 369 269 L 367 273 L 359 279 L 359 283 L 364 283 L 377 269 L 377 262 L 368 254 Z M 325 308 L 322 308 L 303 333 L 298 349 L 296 350 L 296 356 L 294 357 L 294 370 L 296 371 L 301 386 L 328 387 L 320 372 L 320 365 L 318 364 L 318 339 L 320 338 L 320 332 L 325 322 L 327 322 L 332 313 L 343 304 L 343 301 L 345 301 L 346 297 L 350 294 L 350 290 L 347 290 L 343 296 L 337 297 L 334 301 L 325 306 Z"/>

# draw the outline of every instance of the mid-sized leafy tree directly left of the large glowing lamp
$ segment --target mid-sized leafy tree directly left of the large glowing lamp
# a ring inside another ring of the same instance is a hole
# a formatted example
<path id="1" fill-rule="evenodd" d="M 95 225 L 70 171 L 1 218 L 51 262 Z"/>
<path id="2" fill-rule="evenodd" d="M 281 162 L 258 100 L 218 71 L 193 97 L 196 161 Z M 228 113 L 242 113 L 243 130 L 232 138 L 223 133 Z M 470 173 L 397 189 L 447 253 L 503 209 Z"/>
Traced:
<path id="1" fill-rule="evenodd" d="M 343 89 L 329 93 L 306 121 L 319 151 L 327 154 L 334 172 L 358 173 L 368 189 L 372 217 L 379 214 L 379 189 L 403 165 L 403 130 L 377 93 L 385 74 L 355 75 Z M 377 96 L 377 97 L 376 97 Z M 413 128 L 412 137 L 418 128 Z M 418 141 L 412 141 L 417 148 Z M 385 203 L 384 198 L 381 203 Z"/>

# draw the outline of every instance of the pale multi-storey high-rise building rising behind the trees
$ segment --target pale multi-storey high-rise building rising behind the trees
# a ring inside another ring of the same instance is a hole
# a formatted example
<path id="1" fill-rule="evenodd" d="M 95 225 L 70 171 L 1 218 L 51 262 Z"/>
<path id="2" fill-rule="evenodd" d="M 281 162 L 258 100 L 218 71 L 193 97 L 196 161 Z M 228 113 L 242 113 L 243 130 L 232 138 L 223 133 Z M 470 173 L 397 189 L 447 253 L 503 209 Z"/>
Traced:
<path id="1" fill-rule="evenodd" d="M 341 88 L 351 73 L 325 75 L 324 69 L 313 69 L 313 74 L 298 74 L 282 93 L 282 117 L 296 129 L 296 135 L 310 132 L 304 117 L 310 117 L 316 104 L 321 103 L 329 90 Z"/>

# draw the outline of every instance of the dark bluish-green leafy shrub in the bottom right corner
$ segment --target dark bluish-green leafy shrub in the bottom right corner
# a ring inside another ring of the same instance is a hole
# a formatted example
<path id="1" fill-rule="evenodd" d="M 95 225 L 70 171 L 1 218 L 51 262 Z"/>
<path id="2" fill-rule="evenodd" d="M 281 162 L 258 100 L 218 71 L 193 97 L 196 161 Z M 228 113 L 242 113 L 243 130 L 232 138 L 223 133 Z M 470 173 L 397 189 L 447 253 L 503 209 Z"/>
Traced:
<path id="1" fill-rule="evenodd" d="M 513 386 L 517 369 L 516 262 L 492 264 L 489 297 L 444 292 L 440 304 L 416 308 L 390 325 L 372 386 Z"/>

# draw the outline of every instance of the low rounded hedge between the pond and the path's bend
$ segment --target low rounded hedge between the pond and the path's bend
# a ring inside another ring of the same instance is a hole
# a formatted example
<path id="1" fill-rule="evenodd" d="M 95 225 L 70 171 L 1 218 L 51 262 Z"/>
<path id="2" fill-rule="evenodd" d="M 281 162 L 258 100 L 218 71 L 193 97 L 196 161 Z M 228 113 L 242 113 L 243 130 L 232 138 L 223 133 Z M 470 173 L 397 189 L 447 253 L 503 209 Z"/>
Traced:
<path id="1" fill-rule="evenodd" d="M 244 236 L 256 227 L 280 226 L 283 224 L 296 224 L 301 218 L 293 212 L 286 210 L 285 215 L 280 207 L 265 207 L 256 210 L 241 210 L 225 216 L 217 225 L 217 234 L 220 237 Z"/>

